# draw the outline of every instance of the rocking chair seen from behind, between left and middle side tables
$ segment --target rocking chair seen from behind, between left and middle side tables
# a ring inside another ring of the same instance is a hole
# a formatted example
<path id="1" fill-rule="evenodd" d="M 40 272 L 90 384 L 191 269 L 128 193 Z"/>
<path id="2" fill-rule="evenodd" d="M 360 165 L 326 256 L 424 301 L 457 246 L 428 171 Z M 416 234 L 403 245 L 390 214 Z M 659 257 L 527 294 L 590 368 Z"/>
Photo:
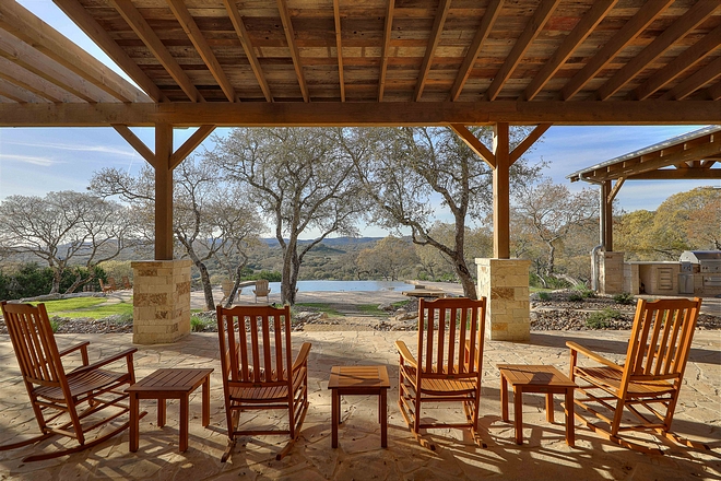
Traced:
<path id="1" fill-rule="evenodd" d="M 225 392 L 228 447 L 225 462 L 244 435 L 287 434 L 291 442 L 275 456 L 282 459 L 300 434 L 308 411 L 308 353 L 304 342 L 295 361 L 291 350 L 291 308 L 217 307 L 217 333 Z M 287 430 L 239 430 L 245 410 L 285 409 Z"/>

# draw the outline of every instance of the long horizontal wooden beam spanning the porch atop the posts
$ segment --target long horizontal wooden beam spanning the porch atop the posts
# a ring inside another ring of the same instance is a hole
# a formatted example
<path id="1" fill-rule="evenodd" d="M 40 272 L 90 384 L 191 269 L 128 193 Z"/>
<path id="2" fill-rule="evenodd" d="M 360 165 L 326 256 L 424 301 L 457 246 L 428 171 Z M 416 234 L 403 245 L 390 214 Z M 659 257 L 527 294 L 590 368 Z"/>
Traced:
<path id="1" fill-rule="evenodd" d="M 2 68 L 0 67 L 0 71 Z M 74 101 L 76 102 L 76 101 Z M 0 127 L 338 127 L 512 125 L 718 124 L 721 101 L 495 102 L 209 102 L 161 104 L 3 104 Z"/>

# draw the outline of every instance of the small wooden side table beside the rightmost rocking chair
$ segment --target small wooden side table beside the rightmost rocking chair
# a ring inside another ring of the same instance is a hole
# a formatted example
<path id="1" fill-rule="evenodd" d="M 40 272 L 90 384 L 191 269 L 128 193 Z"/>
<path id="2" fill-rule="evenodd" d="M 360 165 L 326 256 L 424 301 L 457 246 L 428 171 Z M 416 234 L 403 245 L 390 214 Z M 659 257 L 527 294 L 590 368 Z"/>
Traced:
<path id="1" fill-rule="evenodd" d="M 546 421 L 553 422 L 553 395 L 566 395 L 566 443 L 576 444 L 574 432 L 574 389 L 578 386 L 553 366 L 498 364 L 500 369 L 500 412 L 508 419 L 508 383 L 513 387 L 516 444 L 523 444 L 523 392 L 546 395 Z"/>

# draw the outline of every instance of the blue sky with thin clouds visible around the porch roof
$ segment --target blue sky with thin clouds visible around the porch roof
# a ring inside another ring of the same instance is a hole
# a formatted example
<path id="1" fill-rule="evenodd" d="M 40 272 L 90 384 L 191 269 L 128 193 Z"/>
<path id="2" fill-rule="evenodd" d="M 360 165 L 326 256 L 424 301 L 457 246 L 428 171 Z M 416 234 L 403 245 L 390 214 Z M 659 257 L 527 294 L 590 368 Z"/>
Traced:
<path id="1" fill-rule="evenodd" d="M 51 0 L 19 2 L 122 74 Z M 546 175 L 578 190 L 589 185 L 569 184 L 566 175 L 700 127 L 552 127 L 527 157 L 532 163 L 548 162 Z M 147 145 L 153 144 L 152 129 L 133 130 Z M 226 131 L 218 129 L 216 133 Z M 176 145 L 191 133 L 192 129 L 176 130 Z M 199 149 L 203 146 L 212 148 L 210 140 Z M 0 128 L 0 200 L 11 195 L 44 196 L 57 190 L 84 190 L 94 171 L 119 167 L 134 173 L 144 162 L 110 128 Z M 673 193 L 710 184 L 721 187 L 718 180 L 629 181 L 620 189 L 617 202 L 627 211 L 654 210 Z M 364 234 L 383 235 L 375 228 Z"/>

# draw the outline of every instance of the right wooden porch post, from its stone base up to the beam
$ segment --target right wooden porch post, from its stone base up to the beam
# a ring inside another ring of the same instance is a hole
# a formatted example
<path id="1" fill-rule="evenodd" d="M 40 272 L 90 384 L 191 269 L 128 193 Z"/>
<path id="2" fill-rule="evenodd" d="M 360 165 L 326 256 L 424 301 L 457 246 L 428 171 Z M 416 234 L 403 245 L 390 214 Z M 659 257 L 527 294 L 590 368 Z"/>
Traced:
<path id="1" fill-rule="evenodd" d="M 510 155 L 508 124 L 493 127 L 493 255 L 510 259 Z"/>

